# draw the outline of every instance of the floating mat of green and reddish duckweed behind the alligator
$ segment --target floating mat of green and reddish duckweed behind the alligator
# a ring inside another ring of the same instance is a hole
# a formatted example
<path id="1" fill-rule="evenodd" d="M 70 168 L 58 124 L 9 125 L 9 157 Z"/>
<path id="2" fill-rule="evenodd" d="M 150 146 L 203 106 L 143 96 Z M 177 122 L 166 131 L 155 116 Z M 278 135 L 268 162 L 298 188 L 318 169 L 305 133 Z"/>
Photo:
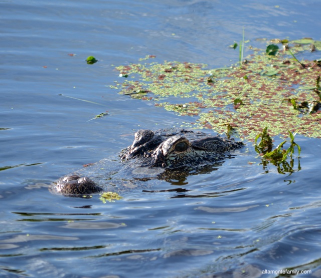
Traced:
<path id="1" fill-rule="evenodd" d="M 251 54 L 244 61 L 217 69 L 187 62 L 155 63 L 154 56 L 146 56 L 137 64 L 116 67 L 121 82 L 111 88 L 193 116 L 193 122 L 183 121 L 184 127 L 213 129 L 250 141 L 265 127 L 271 136 L 297 131 L 321 138 L 321 55 L 320 60 L 297 58 L 314 51 L 317 56 L 321 42 L 269 44 L 266 49 L 248 46 Z"/>

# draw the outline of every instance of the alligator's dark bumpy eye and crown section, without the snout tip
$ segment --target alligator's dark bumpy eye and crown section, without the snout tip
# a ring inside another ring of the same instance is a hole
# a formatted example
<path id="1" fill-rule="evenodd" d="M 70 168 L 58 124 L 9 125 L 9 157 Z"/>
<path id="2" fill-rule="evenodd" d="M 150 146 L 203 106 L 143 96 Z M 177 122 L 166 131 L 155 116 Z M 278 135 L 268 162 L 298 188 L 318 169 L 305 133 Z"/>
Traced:
<path id="1" fill-rule="evenodd" d="M 234 139 L 184 129 L 138 130 L 133 144 L 122 151 L 121 158 L 137 159 L 140 167 L 193 169 L 220 161 L 227 152 L 243 145 Z"/>

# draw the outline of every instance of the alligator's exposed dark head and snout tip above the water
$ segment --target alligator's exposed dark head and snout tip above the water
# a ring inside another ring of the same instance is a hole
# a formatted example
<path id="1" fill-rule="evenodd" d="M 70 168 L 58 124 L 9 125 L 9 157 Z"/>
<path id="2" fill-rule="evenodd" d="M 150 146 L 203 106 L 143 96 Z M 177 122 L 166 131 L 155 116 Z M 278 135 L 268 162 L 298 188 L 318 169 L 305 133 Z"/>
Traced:
<path id="1" fill-rule="evenodd" d="M 154 169 L 157 179 L 166 180 L 174 176 L 187 176 L 191 171 L 231 157 L 230 152 L 243 145 L 234 139 L 186 129 L 159 129 L 155 132 L 141 129 L 135 133 L 133 143 L 123 149 L 119 157 L 122 166 L 132 172 L 137 168 L 151 172 Z M 104 164 L 107 162 L 102 162 Z M 96 167 L 96 170 L 99 169 L 101 167 Z M 53 183 L 50 191 L 76 197 L 98 193 L 103 188 L 89 177 L 72 174 Z"/>

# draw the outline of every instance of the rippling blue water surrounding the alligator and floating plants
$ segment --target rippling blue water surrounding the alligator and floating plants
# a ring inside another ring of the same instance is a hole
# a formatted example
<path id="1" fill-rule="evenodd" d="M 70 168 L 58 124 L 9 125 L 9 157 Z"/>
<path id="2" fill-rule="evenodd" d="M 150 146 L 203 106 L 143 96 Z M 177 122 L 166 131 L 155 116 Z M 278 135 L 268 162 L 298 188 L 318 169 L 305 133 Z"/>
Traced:
<path id="1" fill-rule="evenodd" d="M 317 139 L 297 137 L 301 170 L 291 175 L 263 169 L 248 143 L 218 170 L 148 181 L 149 190 L 132 188 L 114 203 L 48 191 L 81 165 L 116 157 L 138 128 L 191 120 L 118 95 L 107 87 L 118 78 L 113 65 L 146 55 L 229 65 L 243 27 L 253 42 L 320 40 L 319 1 L 13 0 L 0 8 L 1 277 L 321 276 Z M 90 55 L 99 62 L 87 65 Z"/>

